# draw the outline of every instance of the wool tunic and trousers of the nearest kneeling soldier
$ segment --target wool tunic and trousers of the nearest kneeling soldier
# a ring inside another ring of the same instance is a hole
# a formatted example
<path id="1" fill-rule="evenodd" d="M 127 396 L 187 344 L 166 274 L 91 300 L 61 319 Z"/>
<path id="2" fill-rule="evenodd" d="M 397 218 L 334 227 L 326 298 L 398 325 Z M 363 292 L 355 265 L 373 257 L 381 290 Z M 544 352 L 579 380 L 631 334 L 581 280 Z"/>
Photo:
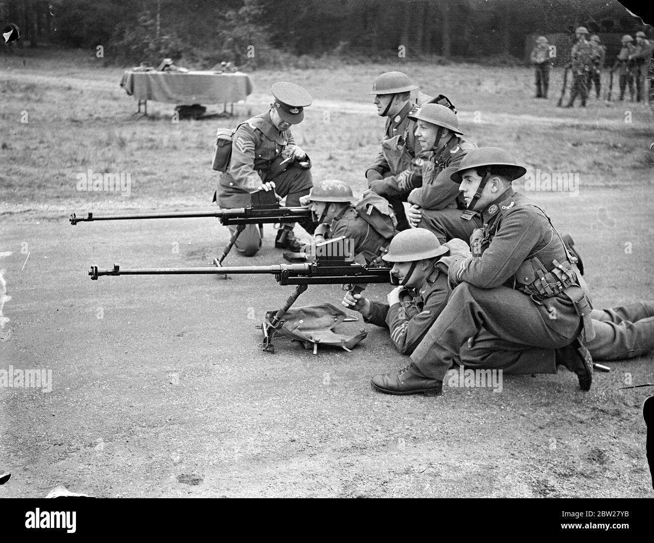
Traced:
<path id="1" fill-rule="evenodd" d="M 509 188 L 482 215 L 485 236 L 481 256 L 453 259 L 448 273 L 455 288 L 411 359 L 425 376 L 441 380 L 458 361 L 460 351 L 466 366 L 483 364 L 485 368 L 521 373 L 527 372 L 527 365 L 529 373 L 555 372 L 555 349 L 570 345 L 581 330 L 585 330 L 586 338 L 593 335 L 587 329 L 591 326 L 589 317 L 582 321 L 578 312 L 590 313 L 585 282 L 568 261 L 547 215 L 522 194 Z M 543 270 L 534 268 L 534 258 L 542 263 Z M 530 264 L 529 272 L 525 264 Z M 539 288 L 551 292 L 548 278 L 554 277 L 555 271 L 561 275 L 559 268 L 555 269 L 557 264 L 566 270 L 562 275 L 565 279 L 560 281 L 570 285 L 563 292 L 545 297 L 517 290 L 526 283 L 528 289 L 544 283 L 547 287 Z M 574 294 L 577 306 L 569 294 Z M 498 338 L 496 348 L 489 349 L 494 353 L 492 360 L 466 357 L 463 352 L 464 343 L 482 328 Z M 534 347 L 536 353 L 530 353 Z"/>

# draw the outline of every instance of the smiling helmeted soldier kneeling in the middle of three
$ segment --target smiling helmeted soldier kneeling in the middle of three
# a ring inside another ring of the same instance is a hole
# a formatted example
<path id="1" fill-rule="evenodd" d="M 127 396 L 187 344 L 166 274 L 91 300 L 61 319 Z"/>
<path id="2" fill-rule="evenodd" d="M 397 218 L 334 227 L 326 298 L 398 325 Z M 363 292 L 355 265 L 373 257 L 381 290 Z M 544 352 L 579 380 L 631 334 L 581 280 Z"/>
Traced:
<path id="1" fill-rule="evenodd" d="M 481 226 L 481 218 L 465 209 L 449 176 L 476 146 L 463 139 L 456 114 L 443 105 L 425 104 L 410 117 L 416 122 L 422 149 L 429 154 L 422 165 L 422 186 L 409 194 L 409 220 L 436 234 L 441 243 L 453 237 L 470 239 L 472 231 Z"/>

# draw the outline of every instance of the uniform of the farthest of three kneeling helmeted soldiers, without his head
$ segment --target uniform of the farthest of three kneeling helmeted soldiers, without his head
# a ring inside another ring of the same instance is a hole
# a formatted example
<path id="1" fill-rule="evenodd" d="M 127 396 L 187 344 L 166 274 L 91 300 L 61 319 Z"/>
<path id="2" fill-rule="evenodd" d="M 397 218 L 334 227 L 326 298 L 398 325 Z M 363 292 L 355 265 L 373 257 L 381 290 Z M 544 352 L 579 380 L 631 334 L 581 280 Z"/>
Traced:
<path id="1" fill-rule="evenodd" d="M 393 118 L 387 118 L 381 151 L 375 162 L 366 169 L 373 169 L 384 176 L 368 183 L 368 188 L 388 200 L 398 219 L 398 230 L 409 228 L 403 201 L 413 188 L 422 185 L 424 153 L 415 137 L 415 121 L 408 118 L 418 111 L 414 103 L 407 103 Z"/>

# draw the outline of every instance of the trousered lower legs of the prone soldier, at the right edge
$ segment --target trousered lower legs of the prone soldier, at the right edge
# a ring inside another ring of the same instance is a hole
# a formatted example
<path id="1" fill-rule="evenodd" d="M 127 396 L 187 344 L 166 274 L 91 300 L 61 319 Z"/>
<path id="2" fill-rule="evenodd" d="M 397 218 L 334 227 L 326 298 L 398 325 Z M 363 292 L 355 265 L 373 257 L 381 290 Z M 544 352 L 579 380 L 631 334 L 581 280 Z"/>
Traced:
<path id="1" fill-rule="evenodd" d="M 654 302 L 593 309 L 591 318 L 595 338 L 585 345 L 593 359 L 630 359 L 654 349 Z"/>

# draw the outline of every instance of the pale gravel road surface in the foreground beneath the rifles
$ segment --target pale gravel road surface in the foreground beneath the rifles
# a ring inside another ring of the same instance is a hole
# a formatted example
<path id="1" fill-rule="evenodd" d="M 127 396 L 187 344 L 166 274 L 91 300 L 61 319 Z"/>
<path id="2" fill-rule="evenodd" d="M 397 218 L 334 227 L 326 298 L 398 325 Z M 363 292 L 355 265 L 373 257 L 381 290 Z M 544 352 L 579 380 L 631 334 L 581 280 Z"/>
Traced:
<path id="1" fill-rule="evenodd" d="M 73 227 L 27 214 L 0 226 L 12 252 L 3 361 L 52 370 L 50 392 L 0 388 L 0 468 L 12 472 L 0 496 L 57 485 L 99 497 L 651 496 L 646 394 L 617 390 L 627 374 L 651 380 L 651 357 L 609 364 L 589 393 L 560 370 L 505 376 L 501 393 L 385 396 L 370 377 L 407 359 L 380 328 L 352 353 L 286 340 L 261 351 L 254 326 L 292 289 L 272 276 L 87 275 L 113 262 L 205 266 L 227 241 L 215 219 Z M 273 235 L 267 226 L 263 251 L 226 264 L 278 262 Z M 600 256 L 586 266 L 592 276 Z M 340 298 L 316 286 L 301 301 Z"/>

